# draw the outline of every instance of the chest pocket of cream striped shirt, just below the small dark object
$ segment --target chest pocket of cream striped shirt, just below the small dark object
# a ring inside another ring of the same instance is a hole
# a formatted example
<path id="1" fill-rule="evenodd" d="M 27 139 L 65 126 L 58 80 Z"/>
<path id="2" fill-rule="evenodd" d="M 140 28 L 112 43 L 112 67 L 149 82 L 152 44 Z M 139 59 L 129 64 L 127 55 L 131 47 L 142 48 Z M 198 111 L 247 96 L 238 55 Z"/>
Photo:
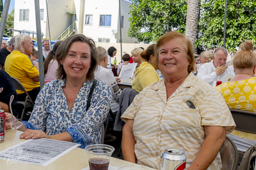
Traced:
<path id="1" fill-rule="evenodd" d="M 201 117 L 198 107 L 191 109 L 186 101 L 180 102 L 175 120 L 190 129 L 191 127 L 201 127 Z"/>

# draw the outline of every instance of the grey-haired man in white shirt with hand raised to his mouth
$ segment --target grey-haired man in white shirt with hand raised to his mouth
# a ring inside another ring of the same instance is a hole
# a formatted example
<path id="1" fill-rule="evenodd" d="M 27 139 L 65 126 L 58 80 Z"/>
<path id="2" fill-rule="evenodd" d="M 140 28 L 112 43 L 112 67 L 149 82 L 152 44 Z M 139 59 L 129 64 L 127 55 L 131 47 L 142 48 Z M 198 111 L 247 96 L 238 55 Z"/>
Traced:
<path id="1" fill-rule="evenodd" d="M 233 67 L 226 66 L 228 52 L 223 46 L 216 48 L 211 62 L 200 66 L 196 76 L 210 85 L 213 81 L 221 81 L 225 74 L 234 74 Z"/>

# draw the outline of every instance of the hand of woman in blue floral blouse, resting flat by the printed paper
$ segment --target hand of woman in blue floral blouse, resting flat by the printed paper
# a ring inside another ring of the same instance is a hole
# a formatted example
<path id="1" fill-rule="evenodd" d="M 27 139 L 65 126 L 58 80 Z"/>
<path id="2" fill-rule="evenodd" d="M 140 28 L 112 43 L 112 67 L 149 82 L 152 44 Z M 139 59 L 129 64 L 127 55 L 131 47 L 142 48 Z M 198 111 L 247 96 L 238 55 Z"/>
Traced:
<path id="1" fill-rule="evenodd" d="M 45 132 L 38 131 L 38 130 L 26 129 L 25 132 L 20 134 L 20 139 L 37 139 L 37 138 L 52 139 L 50 135 L 45 134 Z"/>

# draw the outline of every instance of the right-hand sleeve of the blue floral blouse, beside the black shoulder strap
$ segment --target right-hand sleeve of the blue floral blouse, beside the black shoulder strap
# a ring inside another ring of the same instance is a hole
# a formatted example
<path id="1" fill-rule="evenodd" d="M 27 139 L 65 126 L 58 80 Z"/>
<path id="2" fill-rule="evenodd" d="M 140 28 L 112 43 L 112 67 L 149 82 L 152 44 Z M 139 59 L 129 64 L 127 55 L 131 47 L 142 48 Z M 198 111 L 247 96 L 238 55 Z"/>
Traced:
<path id="1" fill-rule="evenodd" d="M 90 108 L 85 111 L 86 103 L 81 101 L 82 105 L 80 108 L 77 107 L 77 110 L 79 110 L 77 118 L 79 117 L 80 120 L 66 130 L 72 136 L 74 143 L 79 143 L 82 145 L 80 147 L 84 148 L 101 142 L 100 131 L 104 120 L 108 116 L 110 101 L 110 88 L 98 81 L 92 94 Z"/>

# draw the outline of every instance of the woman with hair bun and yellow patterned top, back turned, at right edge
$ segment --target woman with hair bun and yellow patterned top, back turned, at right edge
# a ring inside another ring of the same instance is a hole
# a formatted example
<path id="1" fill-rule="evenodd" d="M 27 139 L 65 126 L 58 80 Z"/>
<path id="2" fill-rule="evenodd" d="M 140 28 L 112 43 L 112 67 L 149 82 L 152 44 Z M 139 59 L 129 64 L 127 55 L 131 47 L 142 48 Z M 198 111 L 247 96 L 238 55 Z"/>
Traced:
<path id="1" fill-rule="evenodd" d="M 216 87 L 225 99 L 228 108 L 246 111 L 256 111 L 256 53 L 253 43 L 244 41 L 234 57 L 234 72 L 232 80 Z M 256 145 L 256 134 L 234 130 L 228 135 L 237 149 L 245 152 L 250 146 Z"/>

